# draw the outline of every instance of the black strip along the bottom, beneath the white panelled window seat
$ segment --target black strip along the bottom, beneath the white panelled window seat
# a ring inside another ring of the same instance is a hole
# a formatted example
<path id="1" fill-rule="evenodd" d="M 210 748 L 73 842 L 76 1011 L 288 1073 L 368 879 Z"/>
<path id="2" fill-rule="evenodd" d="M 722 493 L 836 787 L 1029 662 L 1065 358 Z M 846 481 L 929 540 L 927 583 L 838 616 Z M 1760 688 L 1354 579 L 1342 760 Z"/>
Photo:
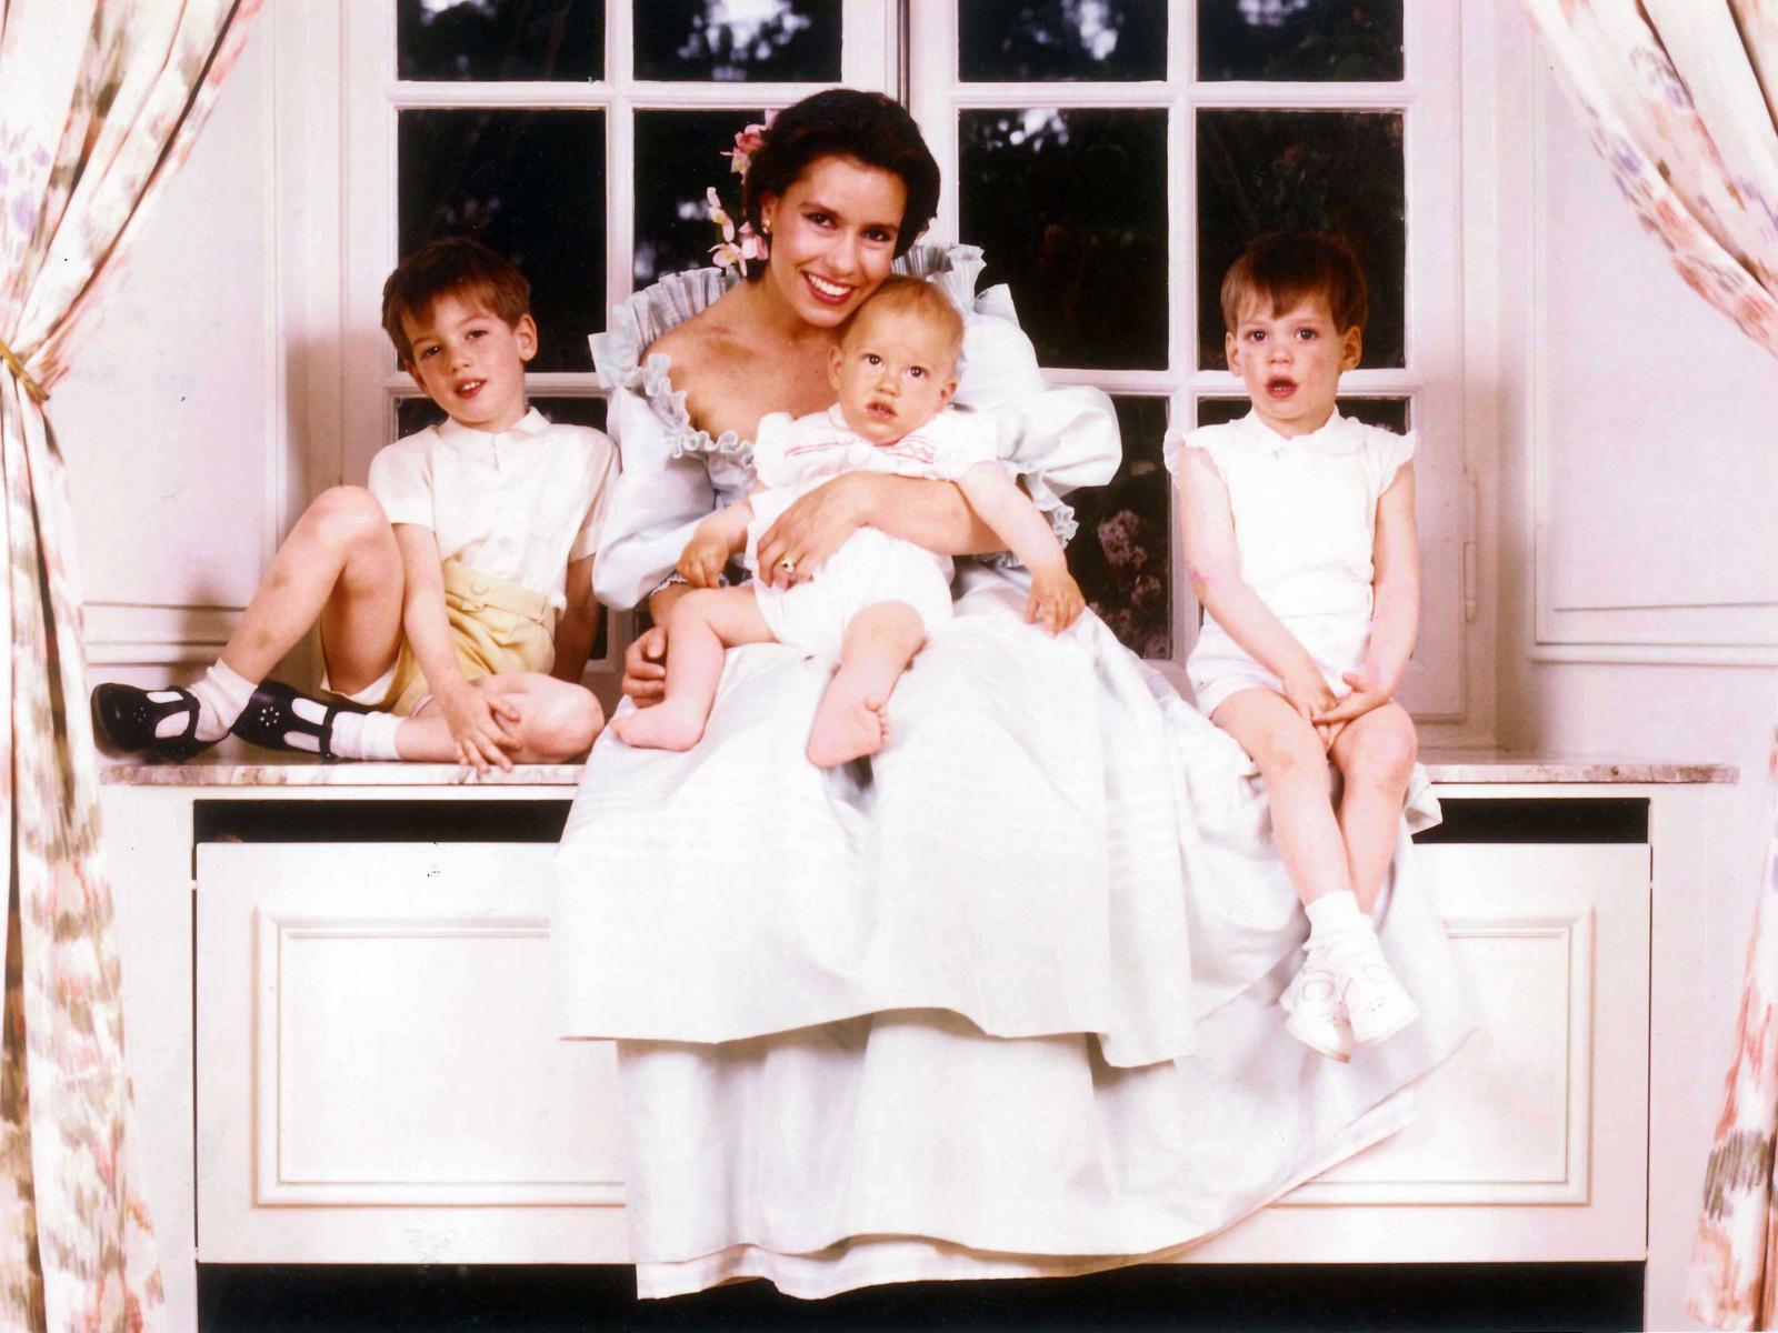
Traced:
<path id="1" fill-rule="evenodd" d="M 628 1267 L 199 1267 L 201 1333 L 581 1329 L 1630 1329 L 1639 1264 L 1150 1265 L 791 1301 L 741 1283 L 635 1299 Z"/>

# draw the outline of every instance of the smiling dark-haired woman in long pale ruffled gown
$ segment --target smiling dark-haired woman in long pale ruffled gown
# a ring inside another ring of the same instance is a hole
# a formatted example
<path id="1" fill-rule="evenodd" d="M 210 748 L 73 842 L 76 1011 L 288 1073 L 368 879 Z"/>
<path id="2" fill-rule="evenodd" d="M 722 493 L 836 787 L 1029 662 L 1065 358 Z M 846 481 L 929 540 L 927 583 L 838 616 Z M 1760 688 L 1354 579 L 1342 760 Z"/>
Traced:
<path id="1" fill-rule="evenodd" d="M 624 475 L 599 595 L 656 592 L 749 483 L 768 411 L 827 407 L 837 325 L 891 261 L 967 311 L 957 402 L 1012 418 L 1058 531 L 1117 466 L 1108 400 L 1045 389 L 980 252 L 912 249 L 937 169 L 907 114 L 836 91 L 754 155 L 763 272 L 667 279 L 594 338 Z M 809 578 L 861 524 L 953 555 L 948 483 L 841 478 L 761 542 Z M 827 665 L 729 654 L 704 741 L 601 743 L 558 855 L 569 1031 L 617 1036 L 638 1292 L 765 1276 L 797 1296 L 1083 1273 L 1165 1255 L 1405 1123 L 1463 1034 L 1424 894 L 1380 924 L 1424 1022 L 1335 1066 L 1284 1033 L 1300 944 L 1246 757 L 1092 615 L 1049 640 L 1015 574 L 965 563 L 957 619 L 891 700 L 868 771 L 802 755 Z M 660 690 L 658 629 L 626 693 Z M 1422 814 L 1430 802 L 1410 802 Z"/>

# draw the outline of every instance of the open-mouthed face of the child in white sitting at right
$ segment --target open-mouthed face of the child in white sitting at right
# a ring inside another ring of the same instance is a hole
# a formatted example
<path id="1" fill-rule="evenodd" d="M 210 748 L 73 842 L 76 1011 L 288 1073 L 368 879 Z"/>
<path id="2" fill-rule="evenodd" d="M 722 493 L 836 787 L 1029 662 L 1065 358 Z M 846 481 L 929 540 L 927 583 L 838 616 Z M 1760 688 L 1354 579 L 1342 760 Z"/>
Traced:
<path id="1" fill-rule="evenodd" d="M 1223 338 L 1229 370 L 1241 377 L 1259 418 L 1280 435 L 1307 435 L 1326 425 L 1339 377 L 1358 364 L 1362 345 L 1358 329 L 1334 327 L 1323 297 L 1287 311 L 1250 300 Z"/>

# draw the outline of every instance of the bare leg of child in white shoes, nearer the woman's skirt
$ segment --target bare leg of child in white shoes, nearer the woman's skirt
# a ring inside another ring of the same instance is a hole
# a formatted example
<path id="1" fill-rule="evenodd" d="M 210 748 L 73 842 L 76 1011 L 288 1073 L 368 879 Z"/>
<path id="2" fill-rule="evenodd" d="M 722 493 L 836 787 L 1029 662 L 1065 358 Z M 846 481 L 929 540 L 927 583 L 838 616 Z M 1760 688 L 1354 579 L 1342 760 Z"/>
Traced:
<path id="1" fill-rule="evenodd" d="M 1350 889 L 1328 757 L 1316 729 L 1282 695 L 1261 688 L 1229 695 L 1211 720 L 1241 743 L 1266 778 L 1271 835 L 1298 898 L 1307 905 Z"/>

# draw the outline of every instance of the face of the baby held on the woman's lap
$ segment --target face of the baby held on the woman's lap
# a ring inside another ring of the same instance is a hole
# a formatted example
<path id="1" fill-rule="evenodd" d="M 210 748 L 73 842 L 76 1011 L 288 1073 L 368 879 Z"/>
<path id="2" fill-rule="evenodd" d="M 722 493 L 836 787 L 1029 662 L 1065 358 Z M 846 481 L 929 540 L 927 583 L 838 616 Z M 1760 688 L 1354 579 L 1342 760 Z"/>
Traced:
<path id="1" fill-rule="evenodd" d="M 871 444 L 894 444 L 926 425 L 957 393 L 957 339 L 917 309 L 871 302 L 829 361 L 846 425 Z"/>

